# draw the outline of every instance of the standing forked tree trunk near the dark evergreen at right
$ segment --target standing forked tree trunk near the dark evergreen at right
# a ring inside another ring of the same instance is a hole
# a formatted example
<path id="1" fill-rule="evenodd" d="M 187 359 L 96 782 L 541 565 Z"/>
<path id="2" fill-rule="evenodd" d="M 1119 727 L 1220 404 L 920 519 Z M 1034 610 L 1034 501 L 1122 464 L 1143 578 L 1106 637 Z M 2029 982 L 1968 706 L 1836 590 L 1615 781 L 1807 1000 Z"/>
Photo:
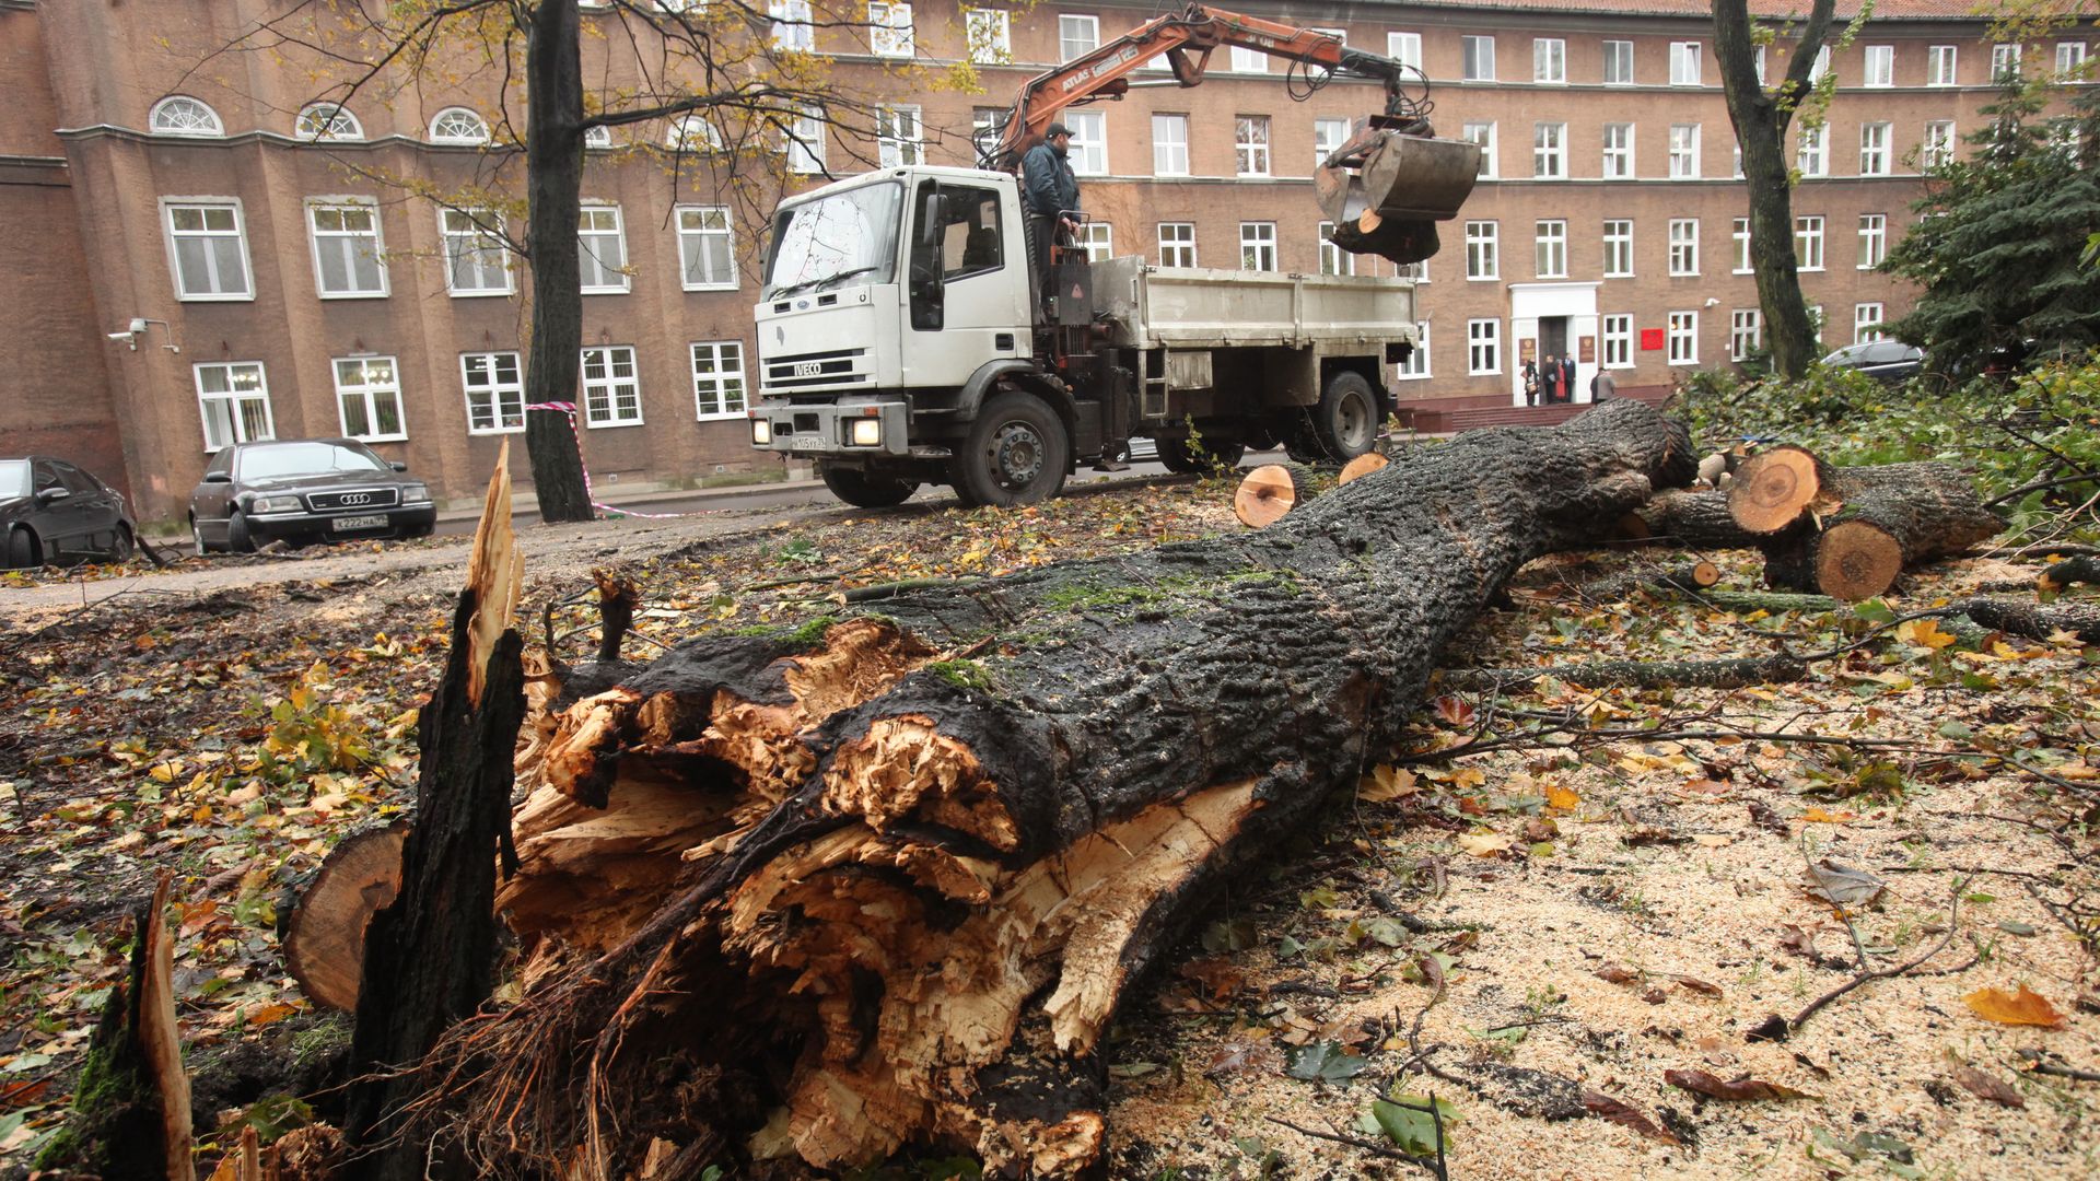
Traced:
<path id="1" fill-rule="evenodd" d="M 1772 92 L 1758 82 L 1747 0 L 1714 0 L 1714 57 L 1720 61 L 1728 120 L 1743 145 L 1743 187 L 1749 191 L 1749 265 L 1758 275 L 1764 343 L 1772 370 L 1798 378 L 1816 359 L 1816 330 L 1802 298 L 1793 258 L 1793 189 L 1787 177 L 1787 124 L 1808 97 L 1808 74 L 1829 36 L 1835 0 L 1814 0 L 1800 42 Z"/>

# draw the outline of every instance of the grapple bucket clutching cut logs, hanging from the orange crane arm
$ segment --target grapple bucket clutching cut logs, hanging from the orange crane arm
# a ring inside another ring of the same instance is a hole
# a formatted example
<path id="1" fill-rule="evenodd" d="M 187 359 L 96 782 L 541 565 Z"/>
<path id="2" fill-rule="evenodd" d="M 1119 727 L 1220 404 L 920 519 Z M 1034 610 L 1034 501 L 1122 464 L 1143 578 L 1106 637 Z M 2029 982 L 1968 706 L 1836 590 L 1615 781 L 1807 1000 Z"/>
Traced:
<path id="1" fill-rule="evenodd" d="M 1436 223 L 1457 216 L 1480 174 L 1480 145 L 1365 126 L 1312 179 L 1331 242 L 1352 254 L 1420 263 Z"/>

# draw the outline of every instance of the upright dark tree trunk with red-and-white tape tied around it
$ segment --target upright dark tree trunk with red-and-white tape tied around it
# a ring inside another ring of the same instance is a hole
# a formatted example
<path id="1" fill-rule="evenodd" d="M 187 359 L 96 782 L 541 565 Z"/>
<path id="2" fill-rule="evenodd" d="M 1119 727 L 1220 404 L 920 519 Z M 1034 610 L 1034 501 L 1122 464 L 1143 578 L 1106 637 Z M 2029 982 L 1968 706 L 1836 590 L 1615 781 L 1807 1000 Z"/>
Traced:
<path id="1" fill-rule="evenodd" d="M 584 193 L 584 67 L 575 0 L 540 0 L 525 36 L 525 200 L 531 256 L 531 355 L 525 401 L 575 401 L 582 387 L 584 271 L 578 223 Z M 533 496 L 542 521 L 590 521 L 582 427 L 559 410 L 525 412 Z"/>

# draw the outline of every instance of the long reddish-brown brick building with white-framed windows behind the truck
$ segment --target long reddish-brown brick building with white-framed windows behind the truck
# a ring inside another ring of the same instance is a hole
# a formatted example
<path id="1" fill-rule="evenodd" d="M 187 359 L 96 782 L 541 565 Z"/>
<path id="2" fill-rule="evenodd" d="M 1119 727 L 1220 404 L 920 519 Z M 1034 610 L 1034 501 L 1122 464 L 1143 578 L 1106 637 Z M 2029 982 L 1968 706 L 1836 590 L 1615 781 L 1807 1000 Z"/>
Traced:
<path id="1" fill-rule="evenodd" d="M 682 6 L 682 4 L 676 4 Z M 176 519 L 210 450 L 244 437 L 355 433 L 441 496 L 485 479 L 521 422 L 525 275 L 456 212 L 391 179 L 517 191 L 504 97 L 483 71 L 403 84 L 346 109 L 296 50 L 214 55 L 262 0 L 0 0 L 0 216 L 10 229 L 0 452 L 82 458 Z M 586 21 L 613 13 L 584 4 Z M 1783 11 L 1783 4 L 1754 8 Z M 1149 19 L 1159 4 L 867 4 L 882 25 L 781 25 L 832 59 L 832 86 L 884 99 L 882 139 L 811 122 L 806 179 L 878 162 L 964 164 L 972 128 L 1021 80 Z M 1514 0 L 1296 4 L 1245 11 L 1418 61 L 1443 134 L 1491 147 L 1462 221 L 1424 265 L 1424 355 L 1394 389 L 1422 408 L 1520 403 L 1520 359 L 1573 353 L 1621 387 L 1726 366 L 1760 343 L 1705 4 Z M 775 0 L 794 21 L 806 0 Z M 819 17 L 821 23 L 821 17 Z M 1909 223 L 1919 166 L 1976 126 L 1995 69 L 2083 63 L 2085 42 L 1993 46 L 1966 0 L 1882 0 L 1829 69 L 1838 97 L 1800 145 L 1798 248 L 1825 343 L 1900 315 L 1871 271 Z M 617 86 L 617 38 L 586 36 L 586 78 Z M 1783 61 L 1774 50 L 1774 71 Z M 2022 57 L 2024 55 L 2024 57 Z M 897 67 L 979 57 L 983 92 Z M 397 80 L 399 82 L 399 80 Z M 1281 61 L 1220 50 L 1210 80 L 1140 74 L 1073 109 L 1075 164 L 1100 254 L 1166 265 L 1321 271 L 1312 170 L 1376 84 L 1306 92 Z M 1147 86 L 1144 82 L 1153 82 Z M 1300 99 L 1300 101 L 1294 101 Z M 510 103 L 517 109 L 517 103 Z M 687 128 L 691 134 L 693 128 Z M 584 450 L 598 481 L 766 471 L 746 446 L 754 202 L 685 170 L 636 124 L 586 162 Z M 1800 134 L 1800 132 L 1796 132 Z M 762 204 L 762 202 L 758 202 Z M 134 322 L 128 340 L 111 340 Z M 176 347 L 178 351 L 170 349 Z"/>

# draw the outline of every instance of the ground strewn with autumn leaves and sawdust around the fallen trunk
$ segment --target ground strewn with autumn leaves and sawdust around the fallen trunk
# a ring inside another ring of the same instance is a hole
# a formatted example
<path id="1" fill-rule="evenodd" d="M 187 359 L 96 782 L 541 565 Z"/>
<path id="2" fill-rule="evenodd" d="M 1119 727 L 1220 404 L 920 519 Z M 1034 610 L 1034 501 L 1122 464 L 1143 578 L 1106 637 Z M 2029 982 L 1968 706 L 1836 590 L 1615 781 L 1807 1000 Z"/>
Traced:
<path id="1" fill-rule="evenodd" d="M 645 597 L 628 654 L 647 658 L 819 618 L 867 586 L 1237 530 L 1228 498 L 1216 481 L 1119 483 L 1021 513 L 527 530 L 521 622 L 582 660 L 596 637 L 580 590 L 617 563 Z M 420 563 L 401 548 L 416 546 L 256 567 L 262 584 L 191 563 L 92 609 L 10 609 L 0 1162 L 19 1168 L 55 1126 L 122 973 L 124 910 L 158 872 L 185 899 L 193 1063 L 328 1040 L 284 977 L 275 906 L 414 782 L 414 706 L 460 561 L 458 546 Z M 1409 1154 L 1438 1137 L 1453 1177 L 2100 1168 L 2100 1089 L 2064 1074 L 2100 1068 L 2085 815 L 2100 662 L 1930 622 L 1865 635 L 1875 607 L 1581 590 L 1644 561 L 1533 563 L 1445 664 L 1762 656 L 1770 635 L 1861 647 L 1802 683 L 1735 691 L 1432 691 L 1415 742 L 1134 994 L 1109 1049 L 1113 1175 L 1411 1175 Z M 1896 607 L 2033 572 L 1947 563 Z M 1756 582 L 1747 559 L 1728 574 Z M 1804 733 L 1867 742 L 1760 738 Z M 1791 1036 L 1751 1040 L 1774 1015 Z"/>

